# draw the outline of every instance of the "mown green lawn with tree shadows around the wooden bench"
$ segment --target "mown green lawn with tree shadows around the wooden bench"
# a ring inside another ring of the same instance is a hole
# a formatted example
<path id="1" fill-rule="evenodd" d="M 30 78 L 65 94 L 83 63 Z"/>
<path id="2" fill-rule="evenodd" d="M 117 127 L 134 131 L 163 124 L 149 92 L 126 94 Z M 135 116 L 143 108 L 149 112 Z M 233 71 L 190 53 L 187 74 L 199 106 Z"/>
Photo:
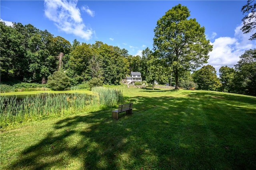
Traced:
<path id="1" fill-rule="evenodd" d="M 256 169 L 256 98 L 117 87 L 112 109 L 35 121 L 1 135 L 0 169 Z"/>

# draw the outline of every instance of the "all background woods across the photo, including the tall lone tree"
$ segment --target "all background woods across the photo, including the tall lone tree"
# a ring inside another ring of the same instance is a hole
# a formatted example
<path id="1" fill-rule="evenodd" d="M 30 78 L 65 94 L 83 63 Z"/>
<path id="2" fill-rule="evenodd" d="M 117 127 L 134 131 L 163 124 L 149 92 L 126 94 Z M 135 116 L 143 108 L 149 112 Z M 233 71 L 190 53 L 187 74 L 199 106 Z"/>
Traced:
<path id="1" fill-rule="evenodd" d="M 170 20 L 181 14 L 186 14 L 182 20 Z M 102 84 L 120 84 L 131 71 L 136 71 L 152 85 L 154 80 L 159 84 L 171 83 L 176 88 L 180 84 L 190 84 L 188 87 L 195 84 L 202 90 L 256 96 L 256 49 L 245 51 L 234 68 L 222 66 L 218 78 L 215 68 L 206 65 L 212 45 L 205 38 L 204 27 L 195 19 L 187 20 L 189 15 L 188 9 L 181 5 L 166 12 L 154 29 L 154 51 L 147 47 L 142 56 L 132 56 L 126 49 L 101 41 L 87 44 L 74 39 L 70 43 L 31 24 L 7 26 L 0 22 L 1 85 L 26 82 L 45 84 L 54 90 L 90 89 Z M 172 27 L 167 27 L 172 22 Z M 193 29 L 183 29 L 190 27 Z M 171 82 L 171 78 L 175 79 Z"/>

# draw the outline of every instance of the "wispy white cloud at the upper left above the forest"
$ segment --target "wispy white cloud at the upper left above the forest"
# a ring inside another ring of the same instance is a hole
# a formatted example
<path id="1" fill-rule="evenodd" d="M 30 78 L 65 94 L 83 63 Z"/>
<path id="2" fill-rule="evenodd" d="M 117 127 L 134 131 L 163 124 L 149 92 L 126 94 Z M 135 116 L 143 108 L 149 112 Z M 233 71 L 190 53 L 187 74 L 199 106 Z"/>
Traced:
<path id="1" fill-rule="evenodd" d="M 94 31 L 84 25 L 76 5 L 77 0 L 45 0 L 44 14 L 61 31 L 89 40 Z"/>

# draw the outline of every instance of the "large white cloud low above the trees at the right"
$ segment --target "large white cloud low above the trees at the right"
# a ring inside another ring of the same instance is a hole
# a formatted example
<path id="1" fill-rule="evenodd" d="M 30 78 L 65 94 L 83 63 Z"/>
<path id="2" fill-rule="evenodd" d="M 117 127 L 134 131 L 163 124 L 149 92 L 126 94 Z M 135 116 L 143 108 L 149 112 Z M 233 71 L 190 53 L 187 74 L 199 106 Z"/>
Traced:
<path id="1" fill-rule="evenodd" d="M 213 49 L 207 64 L 214 66 L 217 74 L 221 66 L 233 67 L 244 51 L 256 48 L 256 42 L 248 40 L 252 33 L 244 34 L 241 27 L 242 23 L 235 28 L 234 37 L 219 37 L 211 43 Z"/>

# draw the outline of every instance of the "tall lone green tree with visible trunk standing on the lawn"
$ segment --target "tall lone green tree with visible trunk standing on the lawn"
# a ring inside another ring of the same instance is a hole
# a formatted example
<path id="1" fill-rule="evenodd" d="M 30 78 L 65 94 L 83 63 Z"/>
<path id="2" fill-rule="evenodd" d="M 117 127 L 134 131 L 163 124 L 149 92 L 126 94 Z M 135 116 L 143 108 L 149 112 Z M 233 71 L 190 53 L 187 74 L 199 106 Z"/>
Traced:
<path id="1" fill-rule="evenodd" d="M 154 50 L 172 66 L 176 88 L 180 72 L 194 70 L 207 63 L 208 53 L 212 50 L 204 27 L 196 19 L 188 19 L 189 16 L 188 8 L 178 4 L 157 21 L 154 29 Z"/>

